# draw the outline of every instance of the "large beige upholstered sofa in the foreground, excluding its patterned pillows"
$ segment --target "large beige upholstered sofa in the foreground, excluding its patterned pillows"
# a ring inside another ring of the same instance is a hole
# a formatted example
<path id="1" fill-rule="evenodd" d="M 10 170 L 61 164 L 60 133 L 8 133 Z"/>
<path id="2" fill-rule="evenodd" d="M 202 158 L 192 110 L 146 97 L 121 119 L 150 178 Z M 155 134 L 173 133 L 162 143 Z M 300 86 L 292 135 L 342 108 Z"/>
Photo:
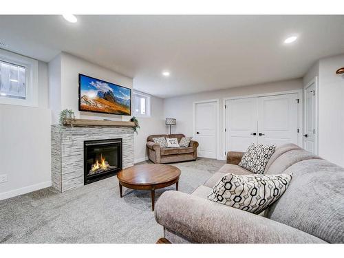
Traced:
<path id="1" fill-rule="evenodd" d="M 191 195 L 166 191 L 155 204 L 155 219 L 172 243 L 344 243 L 344 169 L 294 144 L 277 147 L 266 174 L 292 172 L 282 197 L 255 215 L 208 201 L 226 173 L 248 174 L 237 166 L 244 153 L 228 152 L 222 166 Z"/>

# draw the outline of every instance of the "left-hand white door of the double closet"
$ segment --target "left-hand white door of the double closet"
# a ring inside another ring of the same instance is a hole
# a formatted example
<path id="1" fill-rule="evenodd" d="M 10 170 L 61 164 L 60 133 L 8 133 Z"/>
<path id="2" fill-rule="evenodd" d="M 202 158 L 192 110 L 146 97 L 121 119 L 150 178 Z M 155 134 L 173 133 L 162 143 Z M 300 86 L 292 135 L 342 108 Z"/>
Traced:
<path id="1" fill-rule="evenodd" d="M 226 151 L 246 151 L 257 142 L 257 98 L 226 100 Z"/>

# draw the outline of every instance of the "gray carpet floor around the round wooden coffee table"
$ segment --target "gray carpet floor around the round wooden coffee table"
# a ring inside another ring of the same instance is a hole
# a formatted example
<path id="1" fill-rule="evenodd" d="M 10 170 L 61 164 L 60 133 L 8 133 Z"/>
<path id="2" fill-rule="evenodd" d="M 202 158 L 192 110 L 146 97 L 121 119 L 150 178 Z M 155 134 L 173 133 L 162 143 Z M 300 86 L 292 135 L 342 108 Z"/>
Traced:
<path id="1" fill-rule="evenodd" d="M 223 164 L 205 158 L 173 164 L 182 171 L 179 190 L 191 193 Z M 156 191 L 156 198 L 171 189 Z M 0 201 L 0 243 L 155 243 L 163 232 L 150 192 L 123 191 L 121 199 L 115 176 L 65 193 L 47 188 Z"/>

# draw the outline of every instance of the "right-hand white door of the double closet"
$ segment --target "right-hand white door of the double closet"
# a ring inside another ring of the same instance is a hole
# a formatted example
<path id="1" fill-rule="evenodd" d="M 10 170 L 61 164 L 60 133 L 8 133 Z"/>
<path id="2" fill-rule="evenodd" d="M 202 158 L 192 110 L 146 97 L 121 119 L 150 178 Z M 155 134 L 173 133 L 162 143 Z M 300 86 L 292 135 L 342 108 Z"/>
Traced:
<path id="1" fill-rule="evenodd" d="M 298 94 L 257 98 L 258 142 L 298 144 Z"/>

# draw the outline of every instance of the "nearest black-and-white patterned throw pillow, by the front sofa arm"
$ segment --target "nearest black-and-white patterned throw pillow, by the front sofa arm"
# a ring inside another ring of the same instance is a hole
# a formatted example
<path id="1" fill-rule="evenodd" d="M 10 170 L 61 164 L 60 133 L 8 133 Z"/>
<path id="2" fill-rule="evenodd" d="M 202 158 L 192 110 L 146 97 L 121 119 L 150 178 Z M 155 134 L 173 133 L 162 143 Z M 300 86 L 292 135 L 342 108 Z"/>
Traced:
<path id="1" fill-rule="evenodd" d="M 276 202 L 288 188 L 292 174 L 224 175 L 209 193 L 208 200 L 259 214 Z"/>

